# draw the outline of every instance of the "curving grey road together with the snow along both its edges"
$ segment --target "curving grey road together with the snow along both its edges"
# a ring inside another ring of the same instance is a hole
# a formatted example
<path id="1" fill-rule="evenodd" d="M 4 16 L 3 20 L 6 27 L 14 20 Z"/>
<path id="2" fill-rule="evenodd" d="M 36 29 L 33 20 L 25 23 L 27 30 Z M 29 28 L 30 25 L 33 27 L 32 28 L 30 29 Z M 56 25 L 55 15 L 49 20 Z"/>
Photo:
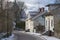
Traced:
<path id="1" fill-rule="evenodd" d="M 53 36 L 41 35 L 40 33 L 31 33 L 24 31 L 14 31 L 9 38 L 2 40 L 60 40 Z"/>

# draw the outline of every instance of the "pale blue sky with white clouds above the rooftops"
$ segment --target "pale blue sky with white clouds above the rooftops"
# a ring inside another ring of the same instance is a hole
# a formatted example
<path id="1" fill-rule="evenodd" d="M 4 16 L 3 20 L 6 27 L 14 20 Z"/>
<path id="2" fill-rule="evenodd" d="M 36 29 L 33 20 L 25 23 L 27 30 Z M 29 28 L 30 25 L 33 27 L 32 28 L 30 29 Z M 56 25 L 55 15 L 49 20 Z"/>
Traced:
<path id="1" fill-rule="evenodd" d="M 10 0 L 10 1 L 14 1 L 14 0 Z M 38 8 L 40 7 L 44 7 L 47 4 L 50 3 L 54 3 L 55 0 L 17 0 L 17 1 L 23 1 L 25 2 L 28 10 L 32 11 L 32 10 L 38 10 Z"/>

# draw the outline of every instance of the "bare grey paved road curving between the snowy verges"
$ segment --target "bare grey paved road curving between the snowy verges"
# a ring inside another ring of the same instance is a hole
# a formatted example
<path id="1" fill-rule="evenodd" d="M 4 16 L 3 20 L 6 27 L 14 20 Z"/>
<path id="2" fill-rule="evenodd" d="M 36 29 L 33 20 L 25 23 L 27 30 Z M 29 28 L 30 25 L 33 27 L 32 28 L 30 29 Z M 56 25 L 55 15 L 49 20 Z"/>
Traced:
<path id="1" fill-rule="evenodd" d="M 14 35 L 14 40 L 43 40 L 40 36 L 27 34 L 25 32 L 14 32 Z"/>

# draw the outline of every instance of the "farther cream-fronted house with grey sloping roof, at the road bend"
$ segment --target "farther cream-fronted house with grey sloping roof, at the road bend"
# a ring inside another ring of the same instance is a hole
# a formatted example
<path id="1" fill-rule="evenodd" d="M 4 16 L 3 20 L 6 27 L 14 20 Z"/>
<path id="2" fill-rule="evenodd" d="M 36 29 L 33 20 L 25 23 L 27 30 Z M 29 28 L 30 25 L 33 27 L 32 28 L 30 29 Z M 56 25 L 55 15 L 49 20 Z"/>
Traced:
<path id="1" fill-rule="evenodd" d="M 41 8 L 43 11 L 43 8 Z M 30 14 L 32 13 L 32 14 Z M 33 11 L 33 12 L 28 12 L 26 11 L 26 15 L 27 15 L 27 19 L 25 21 L 25 29 L 26 30 L 29 30 L 30 32 L 37 32 L 37 29 L 38 29 L 38 26 L 44 26 L 44 18 L 42 17 L 42 15 L 45 13 L 45 12 L 36 12 L 36 11 Z M 34 13 L 34 14 L 33 14 Z"/>

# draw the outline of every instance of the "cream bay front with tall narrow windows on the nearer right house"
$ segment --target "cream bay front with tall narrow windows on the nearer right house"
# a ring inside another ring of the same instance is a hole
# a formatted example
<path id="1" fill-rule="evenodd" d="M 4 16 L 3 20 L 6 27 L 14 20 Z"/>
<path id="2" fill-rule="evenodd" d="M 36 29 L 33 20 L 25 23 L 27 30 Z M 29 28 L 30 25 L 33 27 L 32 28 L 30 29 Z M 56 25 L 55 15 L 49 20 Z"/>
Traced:
<path id="1" fill-rule="evenodd" d="M 53 29 L 54 29 L 54 16 L 46 16 L 45 31 L 51 30 L 53 32 Z"/>

